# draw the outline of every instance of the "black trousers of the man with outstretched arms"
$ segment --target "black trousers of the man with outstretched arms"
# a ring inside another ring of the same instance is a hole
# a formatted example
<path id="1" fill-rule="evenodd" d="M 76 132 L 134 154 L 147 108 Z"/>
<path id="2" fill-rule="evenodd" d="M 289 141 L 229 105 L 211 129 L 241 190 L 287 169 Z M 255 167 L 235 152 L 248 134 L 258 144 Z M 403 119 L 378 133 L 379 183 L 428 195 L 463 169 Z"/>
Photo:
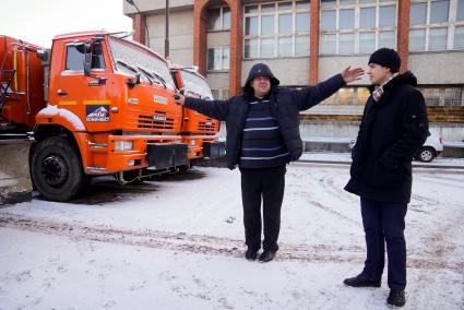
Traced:
<path id="1" fill-rule="evenodd" d="M 245 240 L 248 248 L 261 248 L 261 200 L 263 202 L 263 249 L 277 251 L 281 207 L 284 199 L 286 166 L 241 168 Z"/>

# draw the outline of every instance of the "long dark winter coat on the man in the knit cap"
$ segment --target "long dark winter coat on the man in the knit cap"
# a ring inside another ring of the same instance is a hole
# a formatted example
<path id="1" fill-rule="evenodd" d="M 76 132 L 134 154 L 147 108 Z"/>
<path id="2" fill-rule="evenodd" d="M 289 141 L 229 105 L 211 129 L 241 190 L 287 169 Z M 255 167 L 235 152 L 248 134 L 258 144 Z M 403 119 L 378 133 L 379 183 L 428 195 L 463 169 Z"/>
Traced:
<path id="1" fill-rule="evenodd" d="M 368 98 L 352 151 L 348 192 L 388 203 L 409 202 L 412 159 L 428 135 L 427 109 L 416 86 L 416 76 L 407 71 L 384 85 L 379 103 Z"/>

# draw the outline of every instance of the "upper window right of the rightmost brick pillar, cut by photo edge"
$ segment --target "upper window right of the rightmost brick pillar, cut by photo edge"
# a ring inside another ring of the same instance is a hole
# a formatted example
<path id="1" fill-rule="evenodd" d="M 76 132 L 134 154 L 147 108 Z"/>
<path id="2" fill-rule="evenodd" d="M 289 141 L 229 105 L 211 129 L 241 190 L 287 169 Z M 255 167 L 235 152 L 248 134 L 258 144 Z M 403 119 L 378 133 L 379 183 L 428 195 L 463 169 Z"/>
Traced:
<path id="1" fill-rule="evenodd" d="M 411 51 L 463 49 L 464 0 L 413 0 Z"/>

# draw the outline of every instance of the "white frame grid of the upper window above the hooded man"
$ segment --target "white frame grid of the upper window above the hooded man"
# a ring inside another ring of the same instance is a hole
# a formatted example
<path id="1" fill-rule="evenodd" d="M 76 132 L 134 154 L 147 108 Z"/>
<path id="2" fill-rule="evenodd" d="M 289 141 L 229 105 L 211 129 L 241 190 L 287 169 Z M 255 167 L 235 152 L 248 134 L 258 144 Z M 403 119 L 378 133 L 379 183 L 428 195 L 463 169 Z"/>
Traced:
<path id="1" fill-rule="evenodd" d="M 273 58 L 299 58 L 299 57 L 309 57 L 309 36 L 310 36 L 310 27 L 308 25 L 307 32 L 298 32 L 296 29 L 296 16 L 299 13 L 308 13 L 309 19 L 311 17 L 310 8 L 308 10 L 304 9 L 297 9 L 296 3 L 301 2 L 298 0 L 284 0 L 284 1 L 273 1 L 273 2 L 263 2 L 263 3 L 250 3 L 243 5 L 243 59 L 263 59 L 261 56 L 261 40 L 262 39 L 273 39 L 274 40 L 274 49 L 273 49 L 273 56 L 265 57 L 264 59 L 273 59 Z M 283 10 L 278 11 L 278 3 L 292 3 L 292 9 L 289 10 Z M 262 5 L 274 5 L 274 11 L 271 12 L 262 12 L 261 8 Z M 310 3 L 308 3 L 309 5 Z M 247 8 L 249 7 L 257 7 L 258 12 L 253 13 L 246 13 Z M 278 33 L 278 22 L 279 22 L 279 15 L 283 14 L 292 14 L 292 33 L 290 34 L 279 34 Z M 274 32 L 272 34 L 267 35 L 261 35 L 261 19 L 262 16 L 274 16 Z M 247 35 L 246 34 L 246 21 L 247 17 L 258 17 L 258 35 Z M 296 38 L 301 36 L 308 36 L 308 55 L 296 55 Z M 292 39 L 292 53 L 289 56 L 279 56 L 278 55 L 278 40 L 281 38 L 290 38 Z M 257 57 L 250 57 L 246 58 L 246 41 L 250 39 L 255 39 L 258 41 L 258 53 Z"/>

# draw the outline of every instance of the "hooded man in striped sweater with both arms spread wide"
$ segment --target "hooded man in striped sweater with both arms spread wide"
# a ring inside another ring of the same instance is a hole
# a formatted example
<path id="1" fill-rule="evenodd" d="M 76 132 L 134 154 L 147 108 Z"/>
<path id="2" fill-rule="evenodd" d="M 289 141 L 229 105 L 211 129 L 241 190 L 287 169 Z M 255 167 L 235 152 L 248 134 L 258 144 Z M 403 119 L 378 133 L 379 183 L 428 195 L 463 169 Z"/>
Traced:
<path id="1" fill-rule="evenodd" d="M 254 261 L 261 248 L 261 200 L 264 251 L 259 261 L 272 261 L 278 250 L 286 164 L 302 153 L 299 111 L 319 104 L 362 73 L 360 68 L 348 67 L 317 86 L 296 91 L 278 87 L 279 81 L 267 65 L 257 63 L 245 83 L 245 93 L 227 100 L 209 102 L 177 94 L 178 104 L 226 121 L 227 165 L 234 169 L 238 164 L 241 172 L 247 260 Z"/>

